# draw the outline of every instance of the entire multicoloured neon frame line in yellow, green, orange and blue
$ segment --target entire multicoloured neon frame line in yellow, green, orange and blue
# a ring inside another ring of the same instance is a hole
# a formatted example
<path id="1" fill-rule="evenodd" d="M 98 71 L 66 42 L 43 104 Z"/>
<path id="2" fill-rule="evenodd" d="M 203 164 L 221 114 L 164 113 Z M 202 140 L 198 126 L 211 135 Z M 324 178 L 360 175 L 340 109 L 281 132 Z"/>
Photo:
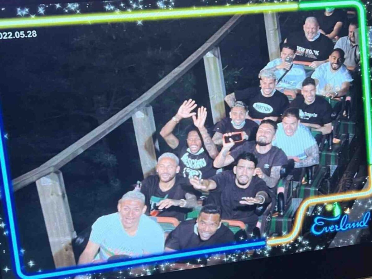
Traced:
<path id="1" fill-rule="evenodd" d="M 361 75 L 363 88 L 363 106 L 365 113 L 365 135 L 366 135 L 366 150 L 367 163 L 369 165 L 369 177 L 372 174 L 371 165 L 371 143 L 372 143 L 372 127 L 371 127 L 371 88 L 369 80 L 369 61 L 368 61 L 368 40 L 367 30 L 365 26 L 366 11 L 363 4 L 356 0 L 351 1 L 309 1 L 309 2 L 288 2 L 280 4 L 248 4 L 248 5 L 231 5 L 231 6 L 215 6 L 215 7 L 198 7 L 198 8 L 181 8 L 174 10 L 150 10 L 144 12 L 120 12 L 120 13 L 97 13 L 84 15 L 66 15 L 66 16 L 43 16 L 16 19 L 1 19 L 0 29 L 17 29 L 23 27 L 42 27 L 42 26 L 58 26 L 58 25 L 78 25 L 78 24 L 95 24 L 108 22 L 133 22 L 137 20 L 160 20 L 172 18 L 191 18 L 191 17 L 209 17 L 209 16 L 226 16 L 235 14 L 250 14 L 250 13 L 264 13 L 264 12 L 299 12 L 307 10 L 324 9 L 325 7 L 344 8 L 352 7 L 357 10 L 359 21 L 359 38 L 360 38 L 360 57 L 361 57 Z M 14 270 L 20 278 L 24 279 L 39 279 L 58 276 L 71 276 L 82 273 L 98 272 L 103 270 L 112 270 L 117 267 L 135 266 L 141 263 L 161 262 L 171 259 L 180 259 L 190 256 L 198 256 L 204 254 L 217 253 L 222 251 L 231 251 L 239 249 L 256 249 L 265 245 L 278 246 L 293 241 L 301 230 L 302 220 L 309 206 L 318 203 L 330 203 L 337 201 L 346 201 L 351 199 L 367 198 L 372 195 L 372 184 L 366 190 L 350 191 L 342 194 L 326 195 L 314 198 L 308 198 L 301 203 L 295 218 L 295 224 L 292 231 L 281 237 L 269 238 L 267 240 L 252 241 L 243 244 L 236 244 L 230 246 L 214 247 L 203 250 L 181 251 L 171 254 L 162 254 L 158 256 L 142 257 L 124 262 L 103 263 L 89 266 L 75 266 L 63 269 L 57 269 L 51 272 L 39 273 L 24 273 L 22 270 L 22 263 L 20 262 L 19 243 L 17 241 L 17 224 L 15 222 L 15 205 L 13 200 L 13 186 L 9 174 L 9 165 L 7 162 L 6 150 L 4 150 L 4 125 L 1 119 L 1 141 L 0 141 L 0 165 L 2 185 L 1 191 L 3 193 L 3 203 L 6 212 L 6 218 L 9 224 L 9 239 L 12 249 L 12 261 Z"/>

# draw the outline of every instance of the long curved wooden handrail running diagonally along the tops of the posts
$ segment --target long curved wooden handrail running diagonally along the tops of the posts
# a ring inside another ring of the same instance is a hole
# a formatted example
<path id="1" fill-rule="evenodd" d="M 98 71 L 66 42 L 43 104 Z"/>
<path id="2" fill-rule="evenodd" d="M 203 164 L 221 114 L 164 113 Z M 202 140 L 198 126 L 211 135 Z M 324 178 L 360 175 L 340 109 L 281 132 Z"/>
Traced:
<path id="1" fill-rule="evenodd" d="M 208 39 L 208 41 L 206 41 L 180 65 L 174 68 L 169 74 L 167 74 L 167 76 L 93 131 L 90 131 L 84 137 L 80 138 L 80 140 L 74 142 L 41 166 L 13 179 L 13 190 L 17 191 L 22 189 L 26 185 L 35 182 L 37 179 L 55 170 L 59 170 L 77 155 L 83 153 L 97 141 L 109 134 L 113 129 L 120 126 L 124 121 L 131 118 L 135 112 L 150 104 L 157 96 L 163 93 L 168 87 L 182 77 L 183 74 L 190 70 L 193 65 L 201 60 L 208 51 L 218 45 L 219 42 L 221 42 L 222 39 L 240 22 L 242 17 L 243 15 L 235 15 L 231 17 L 228 22 L 226 22 L 216 33 L 214 33 L 214 35 L 211 36 L 211 38 Z"/>

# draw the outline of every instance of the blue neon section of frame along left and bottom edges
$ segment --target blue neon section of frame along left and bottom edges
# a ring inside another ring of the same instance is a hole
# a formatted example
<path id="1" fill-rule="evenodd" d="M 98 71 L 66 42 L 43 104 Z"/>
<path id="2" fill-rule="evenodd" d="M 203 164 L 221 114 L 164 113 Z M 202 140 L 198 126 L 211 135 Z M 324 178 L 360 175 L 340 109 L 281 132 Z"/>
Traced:
<path id="1" fill-rule="evenodd" d="M 314 5 L 316 9 L 317 6 Z M 300 10 L 299 10 L 300 11 Z M 298 11 L 298 12 L 299 12 Z M 363 34 L 364 35 L 364 34 Z M 363 73 L 362 73 L 363 74 Z M 116 269 L 118 267 L 128 267 L 128 266 L 135 266 L 138 264 L 148 264 L 148 263 L 157 263 L 157 262 L 164 262 L 166 260 L 177 260 L 187 257 L 193 256 L 204 256 L 205 254 L 214 254 L 224 251 L 232 251 L 232 250 L 242 250 L 242 249 L 258 249 L 266 246 L 265 240 L 256 240 L 250 241 L 243 244 L 235 244 L 235 245 L 228 245 L 228 246 L 218 246 L 214 248 L 207 248 L 203 250 L 190 250 L 190 251 L 183 251 L 177 253 L 167 253 L 161 254 L 158 256 L 148 256 L 148 257 L 141 257 L 132 260 L 126 260 L 125 262 L 112 262 L 112 263 L 104 263 L 104 264 L 94 264 L 94 265 L 82 265 L 82 266 L 74 266 L 74 267 L 67 267 L 67 268 L 60 268 L 57 271 L 52 272 L 38 272 L 36 274 L 33 273 L 23 273 L 22 266 L 20 259 L 22 257 L 19 255 L 19 238 L 18 236 L 18 227 L 17 223 L 15 222 L 15 203 L 14 203 L 14 195 L 13 191 L 10 189 L 9 181 L 10 178 L 10 168 L 9 168 L 9 157 L 7 155 L 6 148 L 6 140 L 4 137 L 4 125 L 3 125 L 3 114 L 2 109 L 0 108 L 0 166 L 1 166 L 1 192 L 5 197 L 5 203 L 3 204 L 4 213 L 6 215 L 6 221 L 9 224 L 9 231 L 10 231 L 10 242 L 9 246 L 13 251 L 12 254 L 12 264 L 13 268 L 16 271 L 16 275 L 23 279 L 41 279 L 41 278 L 50 278 L 50 277 L 57 277 L 57 276 L 66 276 L 66 275 L 77 275 L 82 273 L 91 273 L 91 272 L 98 272 L 98 271 L 109 271 Z M 5 187 L 6 185 L 6 187 Z"/>

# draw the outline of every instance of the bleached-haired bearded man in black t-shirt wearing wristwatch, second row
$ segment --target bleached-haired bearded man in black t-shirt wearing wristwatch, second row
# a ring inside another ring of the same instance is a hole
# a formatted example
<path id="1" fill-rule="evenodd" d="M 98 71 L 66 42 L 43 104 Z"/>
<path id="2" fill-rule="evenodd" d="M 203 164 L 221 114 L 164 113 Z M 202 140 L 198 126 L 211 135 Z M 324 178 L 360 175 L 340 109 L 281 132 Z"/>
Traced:
<path id="1" fill-rule="evenodd" d="M 157 175 L 145 178 L 141 192 L 145 195 L 146 214 L 174 217 L 185 220 L 189 208 L 197 206 L 196 196 L 189 180 L 177 175 L 180 171 L 179 159 L 173 153 L 164 153 L 158 158 Z"/>

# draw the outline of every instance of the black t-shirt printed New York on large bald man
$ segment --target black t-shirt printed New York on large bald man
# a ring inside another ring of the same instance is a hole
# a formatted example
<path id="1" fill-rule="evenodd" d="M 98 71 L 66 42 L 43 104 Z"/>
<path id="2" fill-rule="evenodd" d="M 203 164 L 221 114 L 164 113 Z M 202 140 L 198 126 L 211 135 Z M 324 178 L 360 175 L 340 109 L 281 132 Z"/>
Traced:
<path id="1" fill-rule="evenodd" d="M 297 46 L 295 61 L 323 61 L 327 60 L 333 50 L 333 42 L 320 34 L 315 41 L 308 41 L 304 31 L 289 34 L 287 43 Z"/>

